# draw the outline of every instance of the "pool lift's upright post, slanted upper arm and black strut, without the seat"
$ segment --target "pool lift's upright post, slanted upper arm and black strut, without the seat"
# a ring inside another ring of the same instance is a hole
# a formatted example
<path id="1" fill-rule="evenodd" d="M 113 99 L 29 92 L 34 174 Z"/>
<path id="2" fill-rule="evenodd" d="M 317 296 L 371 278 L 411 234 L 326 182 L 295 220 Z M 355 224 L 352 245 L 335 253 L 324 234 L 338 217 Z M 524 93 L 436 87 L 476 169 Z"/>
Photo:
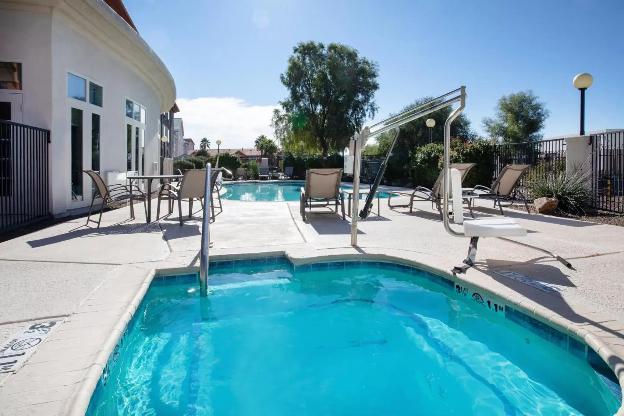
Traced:
<path id="1" fill-rule="evenodd" d="M 434 111 L 443 109 L 444 107 L 448 107 L 449 105 L 459 102 L 462 99 L 462 94 L 465 94 L 465 91 L 466 87 L 460 87 L 458 89 L 452 90 L 451 92 L 447 92 L 447 94 L 440 95 L 439 97 L 417 105 L 416 107 L 405 110 L 401 114 L 394 115 L 389 119 L 383 120 L 370 127 L 364 127 L 360 133 L 355 133 L 353 139 L 351 140 L 351 149 L 354 153 L 353 195 L 359 195 L 359 175 L 361 172 L 362 148 L 366 145 L 366 142 L 369 138 L 378 136 L 381 133 L 388 132 L 389 130 L 396 128 L 396 132 L 394 132 L 394 137 L 392 137 L 392 142 L 390 143 L 390 147 L 388 148 L 388 153 L 386 153 L 386 157 L 384 157 L 384 161 L 381 164 L 381 167 L 379 167 L 379 172 L 377 173 L 373 185 L 371 186 L 371 190 L 366 197 L 364 206 L 362 210 L 359 211 L 359 218 L 366 218 L 371 211 L 375 192 L 377 191 L 377 188 L 379 187 L 379 182 L 381 182 L 381 178 L 383 178 L 384 172 L 386 171 L 388 159 L 392 154 L 392 148 L 394 148 L 394 145 L 396 144 L 396 141 L 399 137 L 399 127 L 401 127 L 401 125 L 405 123 L 409 123 L 413 120 L 424 117 L 425 115 L 430 114 Z M 352 246 L 358 245 L 358 208 L 359 198 L 356 196 L 353 198 L 353 212 L 351 213 Z"/>

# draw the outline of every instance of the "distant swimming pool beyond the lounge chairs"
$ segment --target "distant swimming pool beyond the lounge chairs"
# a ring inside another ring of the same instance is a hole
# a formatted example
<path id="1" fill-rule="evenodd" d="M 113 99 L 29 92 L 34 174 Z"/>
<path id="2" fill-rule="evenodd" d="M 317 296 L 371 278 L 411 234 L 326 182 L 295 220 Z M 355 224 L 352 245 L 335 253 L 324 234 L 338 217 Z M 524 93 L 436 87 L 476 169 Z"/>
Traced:
<path id="1" fill-rule="evenodd" d="M 235 201 L 298 201 L 300 190 L 305 186 L 303 181 L 258 181 L 228 182 L 223 186 L 227 189 L 222 198 Z M 368 189 L 368 185 L 362 188 Z M 353 185 L 341 185 L 341 188 L 353 188 Z M 381 198 L 388 198 L 387 193 L 380 192 Z M 363 195 L 360 195 L 360 199 Z"/>

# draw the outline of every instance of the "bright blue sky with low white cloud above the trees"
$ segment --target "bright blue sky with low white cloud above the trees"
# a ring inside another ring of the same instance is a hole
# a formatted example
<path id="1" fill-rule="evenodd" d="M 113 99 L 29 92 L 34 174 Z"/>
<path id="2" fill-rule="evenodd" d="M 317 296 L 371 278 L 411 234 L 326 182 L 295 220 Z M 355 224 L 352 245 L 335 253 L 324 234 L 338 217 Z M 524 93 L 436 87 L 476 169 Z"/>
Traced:
<path id="1" fill-rule="evenodd" d="M 279 75 L 300 41 L 341 42 L 379 64 L 384 119 L 414 99 L 467 87 L 483 132 L 504 94 L 547 103 L 546 137 L 578 131 L 573 77 L 589 72 L 586 130 L 624 127 L 624 1 L 124 0 L 175 79 L 186 137 L 251 147 L 272 136 Z"/>

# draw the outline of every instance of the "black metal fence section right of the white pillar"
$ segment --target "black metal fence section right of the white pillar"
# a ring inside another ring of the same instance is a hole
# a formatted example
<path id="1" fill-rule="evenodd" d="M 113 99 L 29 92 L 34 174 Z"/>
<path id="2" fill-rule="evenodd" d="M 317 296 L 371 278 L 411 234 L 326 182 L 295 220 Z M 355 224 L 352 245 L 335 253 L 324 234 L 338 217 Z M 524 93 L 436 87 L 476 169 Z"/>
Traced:
<path id="1" fill-rule="evenodd" d="M 592 206 L 624 213 L 624 131 L 590 136 Z"/>

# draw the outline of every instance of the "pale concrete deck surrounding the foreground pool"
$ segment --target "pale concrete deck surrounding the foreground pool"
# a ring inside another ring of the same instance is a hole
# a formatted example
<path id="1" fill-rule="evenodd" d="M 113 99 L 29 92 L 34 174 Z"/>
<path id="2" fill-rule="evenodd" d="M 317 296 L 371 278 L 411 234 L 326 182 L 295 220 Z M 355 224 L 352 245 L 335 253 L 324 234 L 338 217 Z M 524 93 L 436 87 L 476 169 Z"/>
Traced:
<path id="1" fill-rule="evenodd" d="M 410 214 L 406 208 L 390 210 L 384 202 L 380 217 L 371 215 L 359 223 L 358 247 L 352 248 L 349 218 L 342 221 L 328 210 L 315 210 L 303 222 L 298 202 L 223 200 L 224 211 L 210 227 L 210 256 L 286 253 L 293 262 L 368 256 L 442 271 L 466 257 L 468 240 L 448 235 L 430 203 L 415 203 Z M 491 202 L 483 202 L 478 217 L 497 215 Z M 152 210 L 155 218 L 155 203 Z M 529 230 L 519 241 L 563 256 L 575 270 L 540 251 L 483 239 L 478 266 L 461 279 L 585 339 L 622 379 L 622 228 L 522 211 L 505 213 Z M 200 215 L 201 211 L 182 227 L 175 211 L 170 218 L 145 224 L 140 209 L 137 220 L 127 221 L 125 207 L 105 213 L 99 230 L 85 227 L 85 219 L 72 220 L 0 243 L 2 340 L 31 322 L 63 321 L 24 367 L 0 374 L 0 414 L 84 413 L 89 399 L 84 386 L 97 382 L 102 362 L 115 346 L 111 334 L 123 332 L 120 322 L 129 321 L 154 270 L 169 273 L 198 266 Z M 500 269 L 539 278 L 561 290 L 540 291 L 496 274 Z"/>

